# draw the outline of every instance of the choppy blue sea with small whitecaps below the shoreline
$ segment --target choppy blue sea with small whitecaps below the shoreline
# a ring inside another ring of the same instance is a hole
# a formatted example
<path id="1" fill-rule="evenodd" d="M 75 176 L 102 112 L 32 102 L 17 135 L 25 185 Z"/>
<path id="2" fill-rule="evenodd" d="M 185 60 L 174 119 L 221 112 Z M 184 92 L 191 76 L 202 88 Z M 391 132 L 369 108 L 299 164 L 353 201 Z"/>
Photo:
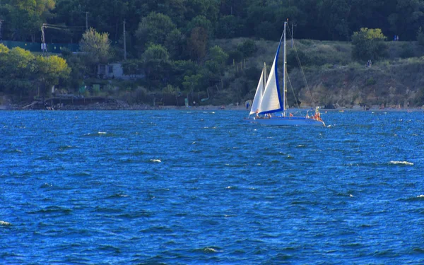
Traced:
<path id="1" fill-rule="evenodd" d="M 0 112 L 0 264 L 424 264 L 424 113 Z"/>

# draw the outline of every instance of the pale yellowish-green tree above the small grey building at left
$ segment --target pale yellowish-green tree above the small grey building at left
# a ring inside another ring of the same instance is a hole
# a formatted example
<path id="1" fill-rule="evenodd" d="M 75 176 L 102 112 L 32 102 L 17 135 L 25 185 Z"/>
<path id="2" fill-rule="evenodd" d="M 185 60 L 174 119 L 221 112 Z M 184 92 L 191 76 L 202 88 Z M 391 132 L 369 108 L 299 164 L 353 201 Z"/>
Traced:
<path id="1" fill-rule="evenodd" d="M 90 28 L 83 34 L 80 42 L 80 49 L 86 53 L 87 64 L 93 69 L 97 69 L 98 64 L 107 64 L 111 57 L 109 33 L 98 33 Z"/>

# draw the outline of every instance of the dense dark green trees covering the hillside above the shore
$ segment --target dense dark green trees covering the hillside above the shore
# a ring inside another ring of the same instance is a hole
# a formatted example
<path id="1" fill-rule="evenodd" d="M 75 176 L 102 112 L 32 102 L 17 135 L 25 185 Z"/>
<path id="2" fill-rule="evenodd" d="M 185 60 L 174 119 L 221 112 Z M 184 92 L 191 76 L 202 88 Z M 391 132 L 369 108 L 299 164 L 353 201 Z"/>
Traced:
<path id="1" fill-rule="evenodd" d="M 86 78 L 98 77 L 98 64 L 121 61 L 124 73 L 144 77 L 125 83 L 128 90 L 143 87 L 206 98 L 212 90 L 228 87 L 232 90 L 227 98 L 240 101 L 249 98 L 255 87 L 257 76 L 249 73 L 260 71 L 257 66 L 246 67 L 245 62 L 257 53 L 254 40 L 279 40 L 287 18 L 298 39 L 352 41 L 353 59 L 361 64 L 387 57 L 384 40 L 394 35 L 402 41 L 424 43 L 420 30 L 424 0 L 1 0 L 0 36 L 39 41 L 42 23 L 49 23 L 56 26 L 45 29 L 46 42 L 80 43 L 81 56 L 63 54 L 72 69 L 67 74 L 71 78 L 44 78 L 47 83 L 61 81 L 78 89 L 88 82 Z M 235 48 L 223 49 L 214 43 L 237 37 L 245 41 Z M 123 60 L 124 40 L 127 61 Z M 28 61 L 44 60 L 31 59 L 18 49 L 3 53 L 10 60 L 15 53 Z M 319 64 L 319 56 L 304 59 Z M 300 57 L 306 56 L 300 52 Z M 411 57 L 411 51 L 404 57 Z M 288 60 L 288 64 L 294 61 L 293 54 Z M 21 80 L 30 80 L 31 64 L 16 67 L 25 70 L 0 69 L 13 78 L 20 73 Z M 8 89 L 21 86 L 7 84 Z M 0 85 L 0 90 L 6 90 L 6 85 Z"/>

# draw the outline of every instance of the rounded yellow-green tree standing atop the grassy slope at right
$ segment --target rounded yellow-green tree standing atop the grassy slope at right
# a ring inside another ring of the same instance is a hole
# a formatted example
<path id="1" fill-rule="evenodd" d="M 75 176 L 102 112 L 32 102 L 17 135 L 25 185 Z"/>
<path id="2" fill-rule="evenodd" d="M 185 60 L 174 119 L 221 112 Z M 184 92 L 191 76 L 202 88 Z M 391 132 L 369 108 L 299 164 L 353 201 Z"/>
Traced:
<path id="1" fill-rule="evenodd" d="M 386 56 L 387 45 L 384 43 L 387 37 L 379 28 L 361 28 L 352 35 L 352 55 L 355 59 L 381 59 Z"/>

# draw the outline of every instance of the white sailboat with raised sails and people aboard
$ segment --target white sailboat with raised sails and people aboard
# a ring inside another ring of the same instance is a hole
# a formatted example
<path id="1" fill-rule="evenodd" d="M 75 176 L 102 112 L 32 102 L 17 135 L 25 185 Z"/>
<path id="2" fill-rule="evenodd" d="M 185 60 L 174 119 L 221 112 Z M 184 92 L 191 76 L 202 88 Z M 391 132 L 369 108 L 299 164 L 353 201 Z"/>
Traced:
<path id="1" fill-rule="evenodd" d="M 307 113 L 305 117 L 295 117 L 293 114 L 288 112 L 288 108 L 285 105 L 285 99 L 287 94 L 286 88 L 286 53 L 285 53 L 285 29 L 288 27 L 288 22 L 284 22 L 283 35 L 281 35 L 280 43 L 276 56 L 274 57 L 273 64 L 269 77 L 266 78 L 266 66 L 262 69 L 261 78 L 257 86 L 254 100 L 252 102 L 252 108 L 249 113 L 249 122 L 255 124 L 264 125 L 308 125 L 308 126 L 325 126 L 319 113 L 319 108 L 315 107 L 314 114 L 311 116 Z M 278 82 L 278 54 L 280 52 L 281 42 L 283 42 L 283 90 L 280 90 L 280 84 Z M 287 114 L 288 113 L 288 114 Z M 250 119 L 251 115 L 254 114 L 253 119 Z"/>

